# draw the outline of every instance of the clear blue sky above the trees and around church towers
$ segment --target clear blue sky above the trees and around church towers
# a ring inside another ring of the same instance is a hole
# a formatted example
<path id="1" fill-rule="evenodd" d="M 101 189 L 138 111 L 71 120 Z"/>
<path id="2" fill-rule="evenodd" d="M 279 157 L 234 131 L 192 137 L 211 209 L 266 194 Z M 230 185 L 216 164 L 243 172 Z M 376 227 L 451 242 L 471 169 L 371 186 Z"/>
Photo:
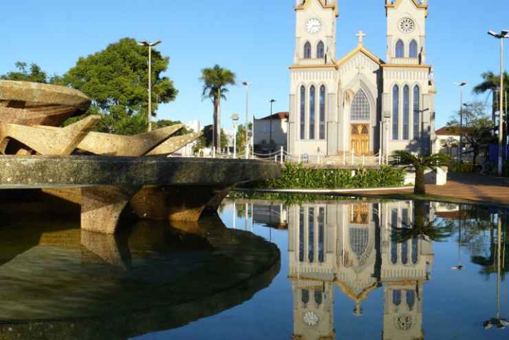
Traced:
<path id="1" fill-rule="evenodd" d="M 358 30 L 365 46 L 385 59 L 386 18 L 382 0 L 339 0 L 338 56 L 356 47 Z M 212 120 L 212 105 L 202 101 L 198 78 L 203 67 L 228 67 L 240 81 L 254 83 L 250 115 L 288 110 L 289 72 L 294 52 L 294 0 L 4 0 L 0 74 L 16 61 L 35 62 L 50 74 L 62 74 L 79 56 L 102 50 L 130 36 L 163 41 L 170 56 L 167 76 L 180 93 L 160 107 L 158 118 Z M 429 0 L 427 58 L 435 70 L 437 127 L 459 107 L 456 81 L 479 83 L 486 70 L 499 72 L 499 42 L 486 32 L 509 29 L 507 0 Z M 509 40 L 507 45 L 509 45 Z M 509 48 L 506 65 L 509 65 Z M 507 70 L 507 68 L 506 68 Z M 467 87 L 465 99 L 476 99 Z M 479 96 L 478 100 L 486 100 Z M 221 105 L 224 127 L 229 117 L 245 114 L 245 92 L 232 87 Z"/>

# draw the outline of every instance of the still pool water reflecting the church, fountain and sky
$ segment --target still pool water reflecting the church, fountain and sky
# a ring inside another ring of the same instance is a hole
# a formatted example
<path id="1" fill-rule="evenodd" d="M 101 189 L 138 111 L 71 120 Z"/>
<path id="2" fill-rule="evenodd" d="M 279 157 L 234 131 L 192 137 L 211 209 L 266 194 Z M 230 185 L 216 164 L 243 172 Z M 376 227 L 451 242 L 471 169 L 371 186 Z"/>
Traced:
<path id="1" fill-rule="evenodd" d="M 226 200 L 222 222 L 117 237 L 6 222 L 0 339 L 508 339 L 504 214 Z"/>

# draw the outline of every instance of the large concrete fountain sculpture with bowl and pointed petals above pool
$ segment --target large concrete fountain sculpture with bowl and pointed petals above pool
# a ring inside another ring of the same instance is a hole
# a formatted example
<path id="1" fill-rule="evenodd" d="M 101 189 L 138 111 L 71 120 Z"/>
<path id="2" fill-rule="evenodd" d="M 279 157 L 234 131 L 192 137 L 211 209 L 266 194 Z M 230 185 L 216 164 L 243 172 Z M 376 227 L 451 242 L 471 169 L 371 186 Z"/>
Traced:
<path id="1" fill-rule="evenodd" d="M 89 105 L 67 87 L 0 81 L 0 189 L 43 189 L 80 204 L 82 229 L 112 234 L 129 202 L 140 218 L 197 221 L 235 184 L 279 176 L 275 163 L 167 158 L 201 136 L 175 136 L 183 125 L 137 136 L 91 131 L 99 116 L 56 126 Z"/>

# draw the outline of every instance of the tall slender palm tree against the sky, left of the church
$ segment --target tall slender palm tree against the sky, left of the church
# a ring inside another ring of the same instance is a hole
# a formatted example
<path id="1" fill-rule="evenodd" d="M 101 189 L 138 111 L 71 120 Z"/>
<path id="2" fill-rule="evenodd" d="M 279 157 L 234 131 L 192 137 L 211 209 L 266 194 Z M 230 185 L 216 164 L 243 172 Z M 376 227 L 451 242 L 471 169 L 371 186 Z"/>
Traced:
<path id="1" fill-rule="evenodd" d="M 226 100 L 227 85 L 235 85 L 235 73 L 215 65 L 204 68 L 200 81 L 204 82 L 203 98 L 210 98 L 214 105 L 213 145 L 217 151 L 221 149 L 221 98 Z"/>

